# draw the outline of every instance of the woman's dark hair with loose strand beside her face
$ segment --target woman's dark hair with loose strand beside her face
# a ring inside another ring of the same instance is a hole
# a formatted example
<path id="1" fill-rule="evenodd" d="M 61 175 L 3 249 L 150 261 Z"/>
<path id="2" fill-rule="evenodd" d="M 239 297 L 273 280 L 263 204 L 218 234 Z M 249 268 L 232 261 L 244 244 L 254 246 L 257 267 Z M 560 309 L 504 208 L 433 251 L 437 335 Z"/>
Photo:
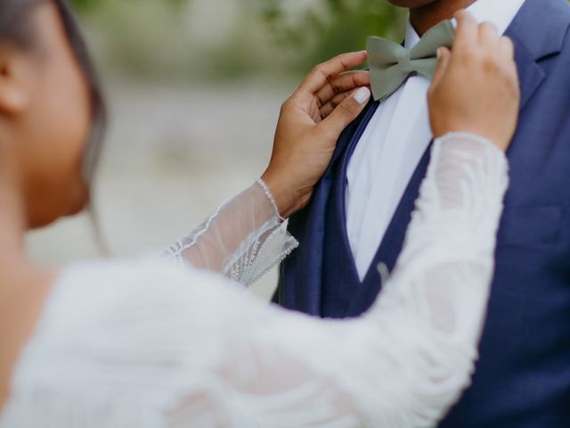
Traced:
<path id="1" fill-rule="evenodd" d="M 85 181 L 90 185 L 93 182 L 94 172 L 101 154 L 107 115 L 94 62 L 87 50 L 85 39 L 69 4 L 66 0 L 0 0 L 0 41 L 13 43 L 22 49 L 33 49 L 39 41 L 36 39 L 36 30 L 33 28 L 29 16 L 37 5 L 45 2 L 52 2 L 57 8 L 69 45 L 89 86 L 92 128 L 85 150 L 84 171 Z"/>

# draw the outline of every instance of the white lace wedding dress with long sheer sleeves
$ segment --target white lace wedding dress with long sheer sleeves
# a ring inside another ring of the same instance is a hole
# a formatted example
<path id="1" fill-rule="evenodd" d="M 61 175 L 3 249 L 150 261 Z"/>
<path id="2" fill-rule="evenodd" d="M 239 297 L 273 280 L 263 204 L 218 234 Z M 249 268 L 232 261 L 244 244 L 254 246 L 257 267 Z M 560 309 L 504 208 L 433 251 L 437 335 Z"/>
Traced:
<path id="1" fill-rule="evenodd" d="M 353 320 L 267 305 L 211 272 L 251 284 L 297 245 L 263 184 L 176 243 L 183 263 L 65 269 L 0 426 L 436 424 L 473 371 L 507 169 L 475 136 L 438 140 L 395 271 Z"/>

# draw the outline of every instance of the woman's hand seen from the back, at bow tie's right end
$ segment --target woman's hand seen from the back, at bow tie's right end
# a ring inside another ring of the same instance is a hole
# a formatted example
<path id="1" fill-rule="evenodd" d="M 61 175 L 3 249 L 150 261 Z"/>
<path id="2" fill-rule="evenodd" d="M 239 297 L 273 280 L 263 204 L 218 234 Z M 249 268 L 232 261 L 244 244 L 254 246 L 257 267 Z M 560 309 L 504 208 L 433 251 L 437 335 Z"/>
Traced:
<path id="1" fill-rule="evenodd" d="M 470 132 L 506 151 L 520 103 L 513 44 L 493 24 L 478 25 L 468 12 L 458 12 L 455 18 L 452 51 L 440 48 L 428 92 L 433 134 Z"/>

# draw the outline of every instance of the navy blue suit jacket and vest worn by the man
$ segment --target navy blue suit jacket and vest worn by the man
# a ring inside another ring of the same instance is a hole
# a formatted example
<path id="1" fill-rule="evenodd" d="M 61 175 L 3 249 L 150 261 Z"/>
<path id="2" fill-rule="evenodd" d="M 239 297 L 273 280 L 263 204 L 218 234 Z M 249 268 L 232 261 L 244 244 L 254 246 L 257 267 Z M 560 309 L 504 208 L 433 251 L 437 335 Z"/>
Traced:
<path id="1" fill-rule="evenodd" d="M 442 428 L 570 427 L 570 6 L 526 0 L 507 34 L 522 89 L 509 149 L 511 184 L 473 384 Z M 346 239 L 346 163 L 377 108 L 371 103 L 340 137 L 314 200 L 290 219 L 300 248 L 281 267 L 275 300 L 319 317 L 369 309 L 383 262 L 402 250 L 424 156 L 361 283 Z"/>

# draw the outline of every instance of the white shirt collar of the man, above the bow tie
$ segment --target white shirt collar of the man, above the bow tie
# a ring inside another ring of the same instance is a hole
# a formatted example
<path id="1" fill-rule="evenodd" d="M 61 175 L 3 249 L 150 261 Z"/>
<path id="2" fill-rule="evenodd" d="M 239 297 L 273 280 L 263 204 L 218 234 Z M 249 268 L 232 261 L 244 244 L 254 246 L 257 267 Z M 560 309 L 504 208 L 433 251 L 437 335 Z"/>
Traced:
<path id="1" fill-rule="evenodd" d="M 517 15 L 518 10 L 525 3 L 525 0 L 477 0 L 471 4 L 467 10 L 481 23 L 484 21 L 493 22 L 499 29 L 499 33 L 504 33 Z M 410 17 L 406 22 L 406 40 L 404 46 L 411 49 L 419 42 L 418 33 L 410 23 Z"/>

